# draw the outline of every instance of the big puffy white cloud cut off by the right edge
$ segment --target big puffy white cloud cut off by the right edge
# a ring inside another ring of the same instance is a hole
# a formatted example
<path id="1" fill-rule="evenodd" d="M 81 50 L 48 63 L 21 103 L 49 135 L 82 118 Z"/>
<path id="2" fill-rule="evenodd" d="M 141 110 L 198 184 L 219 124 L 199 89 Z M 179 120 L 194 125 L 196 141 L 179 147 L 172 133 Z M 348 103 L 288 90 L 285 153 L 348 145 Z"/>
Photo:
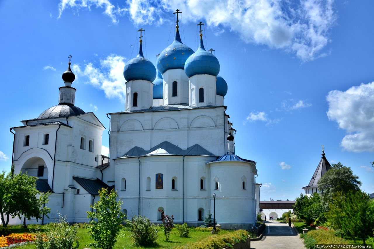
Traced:
<path id="1" fill-rule="evenodd" d="M 374 82 L 330 91 L 326 99 L 329 120 L 348 133 L 340 146 L 347 151 L 374 152 Z"/>

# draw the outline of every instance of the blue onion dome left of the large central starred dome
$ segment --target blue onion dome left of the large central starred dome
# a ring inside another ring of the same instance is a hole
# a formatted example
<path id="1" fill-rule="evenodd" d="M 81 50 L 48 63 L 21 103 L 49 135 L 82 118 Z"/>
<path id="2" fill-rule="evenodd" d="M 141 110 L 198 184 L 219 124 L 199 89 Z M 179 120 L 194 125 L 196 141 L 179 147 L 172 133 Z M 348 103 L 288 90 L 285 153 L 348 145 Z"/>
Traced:
<path id="1" fill-rule="evenodd" d="M 153 82 L 156 78 L 156 68 L 152 62 L 143 56 L 141 40 L 139 54 L 127 62 L 125 68 L 123 68 L 123 77 L 125 77 L 126 82 L 130 80 L 148 80 Z"/>

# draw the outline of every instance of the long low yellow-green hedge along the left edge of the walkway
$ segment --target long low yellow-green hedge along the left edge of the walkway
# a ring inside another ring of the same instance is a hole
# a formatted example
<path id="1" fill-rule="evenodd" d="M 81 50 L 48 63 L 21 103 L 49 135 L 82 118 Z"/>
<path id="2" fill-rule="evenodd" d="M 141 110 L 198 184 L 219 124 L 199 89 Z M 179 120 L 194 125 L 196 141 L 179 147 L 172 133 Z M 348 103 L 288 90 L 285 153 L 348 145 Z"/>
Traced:
<path id="1" fill-rule="evenodd" d="M 211 248 L 211 249 L 221 249 L 225 247 L 232 248 L 233 245 L 239 244 L 240 242 L 245 242 L 248 238 L 248 232 L 245 230 L 237 230 L 232 233 L 226 233 L 221 235 L 209 236 L 208 238 L 195 242 L 192 244 L 187 244 L 184 246 L 179 246 L 177 249 L 199 249 L 199 248 Z"/>

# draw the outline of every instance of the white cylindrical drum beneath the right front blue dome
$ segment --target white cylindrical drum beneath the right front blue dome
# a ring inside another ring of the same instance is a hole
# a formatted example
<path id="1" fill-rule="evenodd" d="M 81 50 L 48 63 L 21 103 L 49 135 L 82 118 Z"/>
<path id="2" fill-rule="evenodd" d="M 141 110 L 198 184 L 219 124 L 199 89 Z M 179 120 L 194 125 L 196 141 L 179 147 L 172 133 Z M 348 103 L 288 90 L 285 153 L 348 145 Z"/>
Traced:
<path id="1" fill-rule="evenodd" d="M 197 74 L 189 78 L 190 107 L 216 105 L 216 78 L 208 74 Z M 204 89 L 204 101 L 199 101 L 199 89 Z"/>

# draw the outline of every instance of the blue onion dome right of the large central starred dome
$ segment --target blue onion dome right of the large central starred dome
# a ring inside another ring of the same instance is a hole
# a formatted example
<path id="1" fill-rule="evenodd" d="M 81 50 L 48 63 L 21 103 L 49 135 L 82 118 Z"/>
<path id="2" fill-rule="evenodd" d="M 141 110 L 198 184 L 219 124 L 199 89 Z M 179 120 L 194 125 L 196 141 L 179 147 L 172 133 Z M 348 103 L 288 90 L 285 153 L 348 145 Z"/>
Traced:
<path id="1" fill-rule="evenodd" d="M 206 52 L 203 44 L 202 34 L 200 34 L 200 46 L 193 55 L 188 57 L 184 65 L 187 77 L 196 74 L 209 74 L 217 76 L 220 72 L 220 62 L 209 52 Z"/>

